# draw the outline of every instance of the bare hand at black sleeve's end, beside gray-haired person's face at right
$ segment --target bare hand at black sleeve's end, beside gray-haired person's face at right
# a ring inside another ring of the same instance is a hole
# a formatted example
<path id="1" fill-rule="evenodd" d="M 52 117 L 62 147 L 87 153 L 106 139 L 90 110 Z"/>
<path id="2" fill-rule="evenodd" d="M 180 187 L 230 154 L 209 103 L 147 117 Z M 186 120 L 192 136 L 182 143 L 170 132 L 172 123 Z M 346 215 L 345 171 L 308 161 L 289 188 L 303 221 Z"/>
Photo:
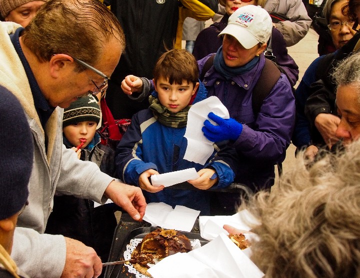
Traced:
<path id="1" fill-rule="evenodd" d="M 335 135 L 339 123 L 340 118 L 329 113 L 320 113 L 315 118 L 315 126 L 329 149 L 339 140 Z"/>

